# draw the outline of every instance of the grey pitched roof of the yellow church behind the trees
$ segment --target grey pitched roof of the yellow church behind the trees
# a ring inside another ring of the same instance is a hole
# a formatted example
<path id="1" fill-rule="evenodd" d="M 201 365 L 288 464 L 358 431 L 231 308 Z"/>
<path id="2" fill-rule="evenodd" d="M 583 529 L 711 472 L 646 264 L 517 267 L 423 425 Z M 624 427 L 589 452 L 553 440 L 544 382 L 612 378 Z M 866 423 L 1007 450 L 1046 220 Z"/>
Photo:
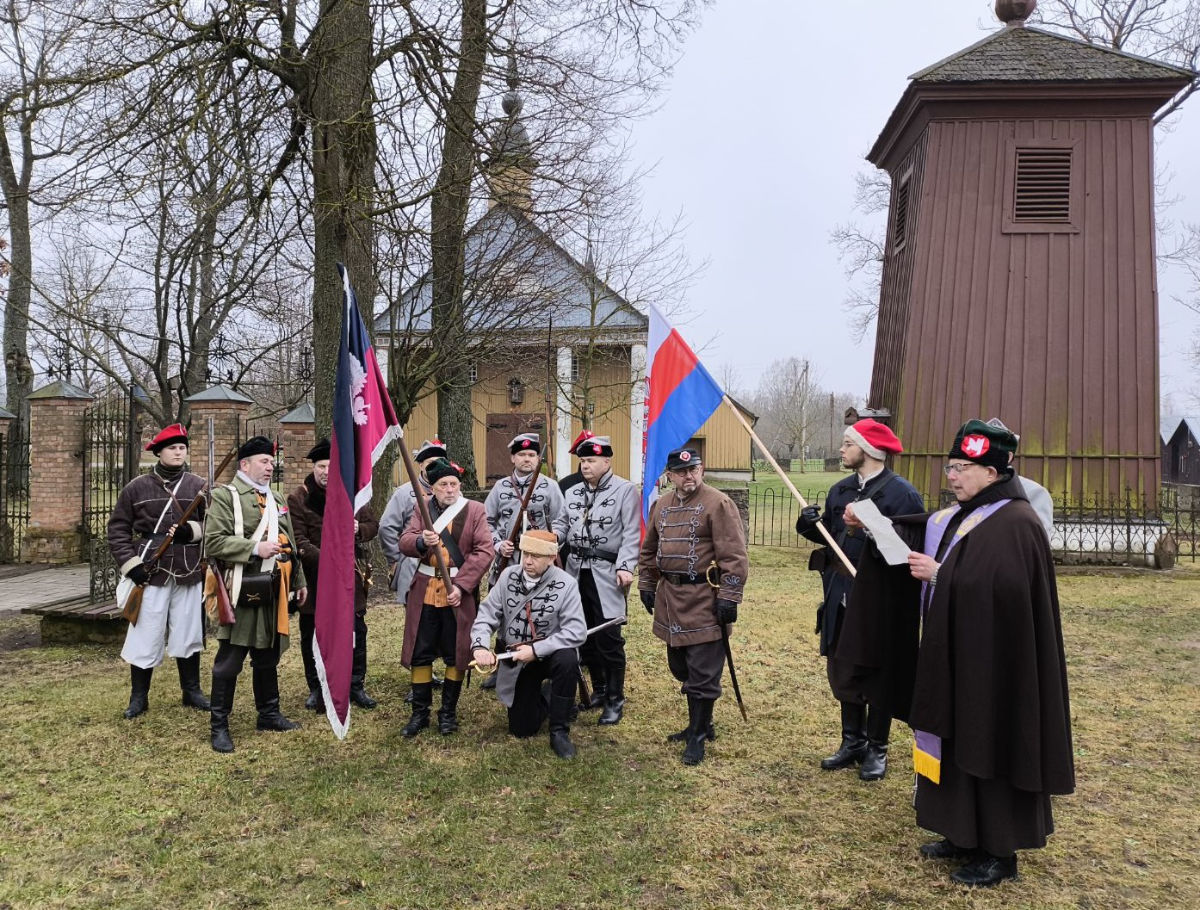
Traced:
<path id="1" fill-rule="evenodd" d="M 467 232 L 468 331 L 528 329 L 530 318 L 553 319 L 554 329 L 646 331 L 649 319 L 550 234 L 510 205 L 494 205 Z M 593 317 L 592 301 L 596 301 Z M 401 331 L 428 331 L 432 277 L 422 275 L 396 305 Z M 377 334 L 391 330 L 392 313 L 374 319 Z"/>

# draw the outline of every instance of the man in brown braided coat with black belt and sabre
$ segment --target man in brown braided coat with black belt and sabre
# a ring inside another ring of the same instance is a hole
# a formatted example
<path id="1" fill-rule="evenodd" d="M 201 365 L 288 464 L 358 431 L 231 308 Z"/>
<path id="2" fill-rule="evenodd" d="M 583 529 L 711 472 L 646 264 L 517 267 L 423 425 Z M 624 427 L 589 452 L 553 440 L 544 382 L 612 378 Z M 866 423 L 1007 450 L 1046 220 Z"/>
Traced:
<path id="1" fill-rule="evenodd" d="M 684 742 L 684 765 L 704 759 L 715 740 L 713 705 L 721 695 L 725 627 L 737 622 L 749 558 L 737 505 L 704 483 L 694 449 L 667 455 L 673 491 L 650 507 L 637 562 L 637 589 L 667 645 L 667 666 L 688 696 L 688 726 L 667 738 Z M 653 483 L 647 478 L 647 483 Z"/>

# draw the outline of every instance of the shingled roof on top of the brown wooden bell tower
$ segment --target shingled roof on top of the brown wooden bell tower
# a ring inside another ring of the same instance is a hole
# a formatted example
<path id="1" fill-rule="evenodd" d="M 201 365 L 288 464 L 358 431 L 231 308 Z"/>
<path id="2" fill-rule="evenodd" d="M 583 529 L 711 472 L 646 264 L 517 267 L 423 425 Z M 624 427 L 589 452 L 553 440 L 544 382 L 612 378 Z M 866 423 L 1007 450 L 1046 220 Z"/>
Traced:
<path id="1" fill-rule="evenodd" d="M 1190 80 L 1194 76 L 1178 66 L 1025 26 L 1000 29 L 908 78 L 917 83 L 1129 82 Z"/>

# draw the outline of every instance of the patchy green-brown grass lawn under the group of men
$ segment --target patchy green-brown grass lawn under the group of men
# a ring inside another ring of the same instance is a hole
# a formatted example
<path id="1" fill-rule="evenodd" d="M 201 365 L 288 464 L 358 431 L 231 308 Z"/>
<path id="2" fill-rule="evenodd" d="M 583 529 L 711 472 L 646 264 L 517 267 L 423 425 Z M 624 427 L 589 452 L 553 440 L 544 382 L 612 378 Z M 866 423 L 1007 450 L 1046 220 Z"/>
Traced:
<path id="1" fill-rule="evenodd" d="M 121 719 L 115 649 L 29 648 L 0 617 L 0 908 L 1194 908 L 1200 894 L 1200 573 L 1061 580 L 1079 789 L 1058 833 L 991 892 L 924 862 L 906 730 L 878 784 L 828 773 L 836 711 L 816 655 L 806 553 L 754 551 L 732 693 L 695 768 L 664 735 L 684 722 L 660 643 L 632 609 L 628 713 L 584 716 L 580 755 L 506 736 L 473 687 L 462 730 L 400 736 L 400 616 L 368 613 L 374 712 L 336 742 L 301 710 L 299 647 L 282 665 L 294 734 L 257 734 L 248 670 L 233 755 L 179 705 L 173 666 L 151 710 Z M 8 642 L 5 645 L 5 642 Z M 7 648 L 7 649 L 5 649 Z M 214 647 L 204 654 L 205 688 Z"/>

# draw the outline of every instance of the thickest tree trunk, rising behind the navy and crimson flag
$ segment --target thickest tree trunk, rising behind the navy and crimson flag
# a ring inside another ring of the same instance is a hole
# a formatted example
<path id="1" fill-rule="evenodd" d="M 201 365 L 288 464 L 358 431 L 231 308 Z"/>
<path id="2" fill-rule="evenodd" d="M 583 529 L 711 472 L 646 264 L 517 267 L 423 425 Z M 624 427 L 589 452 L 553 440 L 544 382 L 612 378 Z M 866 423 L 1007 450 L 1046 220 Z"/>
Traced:
<path id="1" fill-rule="evenodd" d="M 371 331 L 376 274 L 371 208 L 376 192 L 372 22 L 365 0 L 322 0 L 308 53 L 307 114 L 312 124 L 313 182 L 313 407 L 317 436 L 332 421 L 342 330 L 344 263 Z M 336 74 L 336 76 L 335 76 Z"/>

